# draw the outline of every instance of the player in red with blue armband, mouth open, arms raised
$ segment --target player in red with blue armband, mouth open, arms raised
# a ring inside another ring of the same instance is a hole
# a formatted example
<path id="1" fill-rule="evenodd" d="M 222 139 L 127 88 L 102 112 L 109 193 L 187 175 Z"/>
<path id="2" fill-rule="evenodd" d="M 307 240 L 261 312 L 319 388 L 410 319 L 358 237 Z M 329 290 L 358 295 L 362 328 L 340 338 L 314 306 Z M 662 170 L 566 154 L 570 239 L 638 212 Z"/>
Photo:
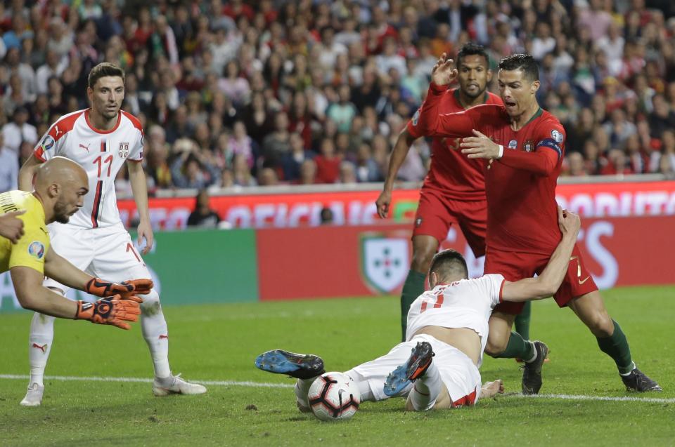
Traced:
<path id="1" fill-rule="evenodd" d="M 508 280 L 539 274 L 548 253 L 560 241 L 555 185 L 563 164 L 565 129 L 555 116 L 539 107 L 539 69 L 531 55 L 517 54 L 499 62 L 499 93 L 504 103 L 479 105 L 460 113 L 444 113 L 441 100 L 457 76 L 445 54 L 432 70 L 432 83 L 420 112 L 420 133 L 464 138 L 460 147 L 472 159 L 484 159 L 487 194 L 487 255 L 485 273 Z M 605 309 L 603 298 L 574 246 L 565 279 L 553 295 L 560 307 L 570 307 L 596 336 L 600 350 L 615 361 L 629 391 L 661 391 L 631 359 L 626 335 Z M 501 303 L 490 319 L 486 352 L 494 357 L 545 359 L 548 347 L 527 342 L 510 331 L 522 302 Z M 538 362 L 538 361 L 537 361 Z M 529 380 L 533 362 L 525 365 L 522 391 L 536 394 Z"/>

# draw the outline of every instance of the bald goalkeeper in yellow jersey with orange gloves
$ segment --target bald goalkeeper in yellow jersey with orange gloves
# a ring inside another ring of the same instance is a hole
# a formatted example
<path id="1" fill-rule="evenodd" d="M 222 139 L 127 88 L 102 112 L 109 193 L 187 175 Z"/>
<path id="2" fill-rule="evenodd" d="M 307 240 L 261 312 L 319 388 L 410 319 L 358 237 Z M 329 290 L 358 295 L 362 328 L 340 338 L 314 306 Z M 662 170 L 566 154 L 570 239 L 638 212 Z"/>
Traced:
<path id="1" fill-rule="evenodd" d="M 0 237 L 0 272 L 10 271 L 21 307 L 67 319 L 86 319 L 129 329 L 137 321 L 143 302 L 137 294 L 147 293 L 150 279 L 112 283 L 82 272 L 49 248 L 46 224 L 68 222 L 88 191 L 84 169 L 75 161 L 55 157 L 40 166 L 33 192 L 0 194 L 0 213 L 15 213 L 23 221 L 23 236 L 16 242 Z M 71 301 L 42 286 L 44 276 L 72 288 L 103 297 L 89 303 Z"/>

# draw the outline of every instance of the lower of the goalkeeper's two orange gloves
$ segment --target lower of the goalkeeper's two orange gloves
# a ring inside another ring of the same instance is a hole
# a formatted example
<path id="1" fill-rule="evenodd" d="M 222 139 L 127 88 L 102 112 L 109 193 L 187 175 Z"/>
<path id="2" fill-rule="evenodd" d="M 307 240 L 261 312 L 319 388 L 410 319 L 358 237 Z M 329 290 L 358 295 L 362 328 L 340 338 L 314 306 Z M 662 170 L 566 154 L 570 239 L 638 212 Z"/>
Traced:
<path id="1" fill-rule="evenodd" d="M 110 324 L 128 331 L 131 326 L 126 321 L 138 321 L 140 314 L 138 302 L 124 300 L 120 295 L 115 295 L 93 303 L 77 301 L 75 319 L 89 320 L 96 324 Z"/>

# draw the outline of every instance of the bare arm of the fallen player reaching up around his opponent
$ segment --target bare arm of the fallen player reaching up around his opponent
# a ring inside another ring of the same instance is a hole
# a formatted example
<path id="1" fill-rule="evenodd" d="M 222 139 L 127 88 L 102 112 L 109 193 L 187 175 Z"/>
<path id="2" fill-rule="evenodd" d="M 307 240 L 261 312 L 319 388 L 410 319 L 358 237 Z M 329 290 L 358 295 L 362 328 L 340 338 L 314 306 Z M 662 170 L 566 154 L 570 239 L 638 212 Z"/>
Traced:
<path id="1" fill-rule="evenodd" d="M 504 301 L 529 301 L 541 300 L 553 295 L 560 283 L 565 279 L 567 267 L 570 264 L 570 256 L 577 243 L 577 234 L 581 227 L 579 215 L 563 210 L 558 206 L 558 227 L 563 232 L 563 239 L 555 248 L 544 272 L 536 278 L 525 278 L 520 281 L 505 281 L 501 291 Z"/>

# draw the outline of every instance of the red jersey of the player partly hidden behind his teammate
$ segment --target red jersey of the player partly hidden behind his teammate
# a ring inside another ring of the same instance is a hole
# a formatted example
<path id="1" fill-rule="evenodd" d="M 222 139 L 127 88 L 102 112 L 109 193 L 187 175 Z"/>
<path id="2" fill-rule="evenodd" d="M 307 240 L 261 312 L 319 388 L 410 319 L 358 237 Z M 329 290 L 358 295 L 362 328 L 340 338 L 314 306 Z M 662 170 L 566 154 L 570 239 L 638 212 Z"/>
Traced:
<path id="1" fill-rule="evenodd" d="M 502 105 L 501 98 L 494 93 L 485 93 L 484 104 Z M 439 112 L 462 112 L 459 90 L 453 88 L 441 95 Z M 413 138 L 423 133 L 418 128 L 420 111 L 408 121 L 408 132 Z M 462 135 L 470 136 L 471 131 Z M 431 167 L 424 179 L 424 187 L 438 189 L 451 199 L 480 200 L 485 198 L 485 179 L 481 160 L 468 159 L 459 149 L 459 138 L 434 138 L 431 143 Z"/>

